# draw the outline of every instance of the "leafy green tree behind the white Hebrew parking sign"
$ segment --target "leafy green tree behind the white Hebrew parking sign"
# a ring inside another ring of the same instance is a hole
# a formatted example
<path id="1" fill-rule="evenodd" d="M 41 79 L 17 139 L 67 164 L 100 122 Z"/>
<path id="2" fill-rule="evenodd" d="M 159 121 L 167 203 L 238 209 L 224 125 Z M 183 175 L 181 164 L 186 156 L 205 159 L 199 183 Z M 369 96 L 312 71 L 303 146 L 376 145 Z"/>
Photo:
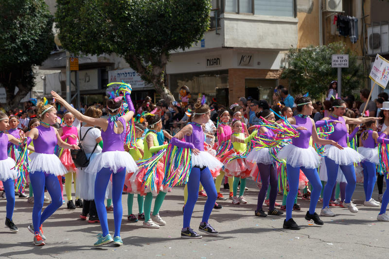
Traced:
<path id="1" fill-rule="evenodd" d="M 337 69 L 331 68 L 332 54 L 349 54 L 349 68 L 342 68 L 342 95 L 350 94 L 363 85 L 364 74 L 356 55 L 346 50 L 342 42 L 290 49 L 287 54 L 289 67 L 283 70 L 281 78 L 289 80 L 294 93 L 309 92 L 310 97 L 320 98 L 327 93 L 330 82 L 337 78 Z"/>

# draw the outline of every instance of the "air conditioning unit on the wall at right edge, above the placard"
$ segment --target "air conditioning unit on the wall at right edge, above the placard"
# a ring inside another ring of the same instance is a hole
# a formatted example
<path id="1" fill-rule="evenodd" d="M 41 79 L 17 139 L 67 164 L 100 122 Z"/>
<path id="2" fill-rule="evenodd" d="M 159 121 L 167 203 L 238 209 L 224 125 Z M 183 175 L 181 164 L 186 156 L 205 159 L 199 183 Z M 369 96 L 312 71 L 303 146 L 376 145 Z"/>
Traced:
<path id="1" fill-rule="evenodd" d="M 368 54 L 389 52 L 389 24 L 368 28 Z"/>

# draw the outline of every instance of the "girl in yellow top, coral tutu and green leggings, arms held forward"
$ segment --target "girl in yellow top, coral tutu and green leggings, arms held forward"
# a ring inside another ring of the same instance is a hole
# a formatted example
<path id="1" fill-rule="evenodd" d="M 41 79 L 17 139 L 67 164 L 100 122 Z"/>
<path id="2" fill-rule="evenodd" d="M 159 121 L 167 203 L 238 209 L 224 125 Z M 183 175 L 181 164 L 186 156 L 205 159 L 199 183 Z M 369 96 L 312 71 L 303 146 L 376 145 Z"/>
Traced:
<path id="1" fill-rule="evenodd" d="M 233 149 L 235 153 L 233 155 L 241 155 L 244 154 L 247 150 L 247 143 L 257 135 L 257 131 L 253 131 L 251 135 L 247 138 L 245 138 L 245 134 L 242 133 L 243 126 L 242 121 L 235 120 L 232 122 L 231 127 L 233 129 L 233 133 L 230 137 Z M 251 169 L 254 167 L 254 164 L 251 162 L 248 162 L 248 160 L 244 157 L 242 158 L 235 158 L 235 159 L 227 159 L 227 163 L 224 165 L 224 172 L 226 173 L 226 176 L 233 177 L 233 197 L 232 197 L 232 204 L 246 204 L 247 201 L 243 197 L 243 194 L 245 193 L 245 187 L 246 187 L 246 178 L 250 176 Z M 237 196 L 236 192 L 238 190 L 238 185 L 240 181 L 240 191 L 239 191 L 239 197 Z M 276 188 L 277 190 L 277 188 Z"/>

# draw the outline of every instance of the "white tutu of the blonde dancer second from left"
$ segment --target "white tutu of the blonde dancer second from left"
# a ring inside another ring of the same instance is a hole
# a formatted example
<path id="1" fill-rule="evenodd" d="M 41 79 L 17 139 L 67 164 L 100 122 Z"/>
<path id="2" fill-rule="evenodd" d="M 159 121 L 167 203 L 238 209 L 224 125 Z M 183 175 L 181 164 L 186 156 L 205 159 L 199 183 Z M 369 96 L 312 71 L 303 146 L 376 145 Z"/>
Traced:
<path id="1" fill-rule="evenodd" d="M 65 166 L 61 163 L 58 156 L 54 154 L 32 153 L 29 155 L 31 161 L 29 162 L 30 173 L 45 172 L 51 173 L 55 176 L 64 175 L 68 173 Z"/>

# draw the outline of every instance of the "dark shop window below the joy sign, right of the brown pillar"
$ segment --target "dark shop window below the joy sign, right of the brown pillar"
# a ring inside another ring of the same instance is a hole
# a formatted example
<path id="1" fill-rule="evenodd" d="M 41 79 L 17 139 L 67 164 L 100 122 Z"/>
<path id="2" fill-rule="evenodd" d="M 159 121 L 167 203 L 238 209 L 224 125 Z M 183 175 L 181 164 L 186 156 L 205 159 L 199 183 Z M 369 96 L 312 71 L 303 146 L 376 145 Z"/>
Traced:
<path id="1" fill-rule="evenodd" d="M 266 100 L 272 103 L 274 88 L 277 86 L 277 79 L 246 79 L 246 96 L 256 100 Z"/>

